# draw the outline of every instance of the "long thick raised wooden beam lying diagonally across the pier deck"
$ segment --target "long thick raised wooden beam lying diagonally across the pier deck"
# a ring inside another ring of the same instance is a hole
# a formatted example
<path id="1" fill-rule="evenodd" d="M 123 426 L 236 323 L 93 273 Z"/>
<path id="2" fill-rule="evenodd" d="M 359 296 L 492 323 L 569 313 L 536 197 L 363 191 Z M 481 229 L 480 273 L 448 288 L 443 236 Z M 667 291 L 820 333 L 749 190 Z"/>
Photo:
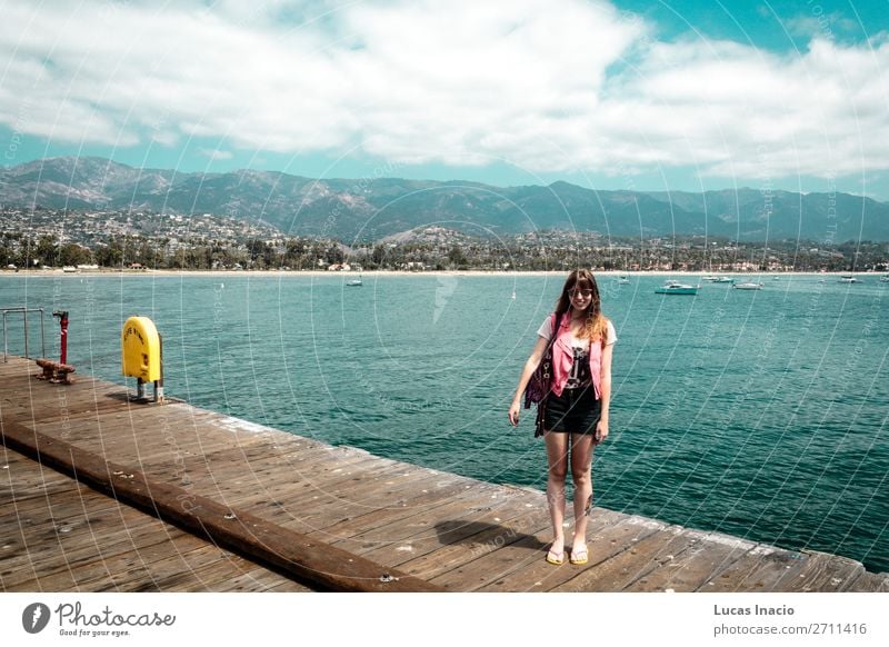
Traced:
<path id="1" fill-rule="evenodd" d="M 407 574 L 390 573 L 380 565 L 340 549 L 319 546 L 317 540 L 284 530 L 249 512 L 238 510 L 233 514 L 226 506 L 206 497 L 149 481 L 138 471 L 129 477 L 124 466 L 106 462 L 70 444 L 31 432 L 20 425 L 3 425 L 3 442 L 20 451 L 38 452 L 42 462 L 68 470 L 79 481 L 111 492 L 118 500 L 153 511 L 163 520 L 176 522 L 191 532 L 284 569 L 322 588 L 369 591 L 438 589 Z M 116 472 L 124 478 L 114 479 Z"/>

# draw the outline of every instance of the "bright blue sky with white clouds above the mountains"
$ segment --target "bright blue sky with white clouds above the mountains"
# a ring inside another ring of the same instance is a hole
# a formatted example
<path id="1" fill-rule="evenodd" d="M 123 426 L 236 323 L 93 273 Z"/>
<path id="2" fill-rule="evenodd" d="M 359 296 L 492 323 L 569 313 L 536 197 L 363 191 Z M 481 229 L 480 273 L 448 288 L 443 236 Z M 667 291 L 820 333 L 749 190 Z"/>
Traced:
<path id="1" fill-rule="evenodd" d="M 889 201 L 889 0 L 0 0 L 0 163 Z"/>

